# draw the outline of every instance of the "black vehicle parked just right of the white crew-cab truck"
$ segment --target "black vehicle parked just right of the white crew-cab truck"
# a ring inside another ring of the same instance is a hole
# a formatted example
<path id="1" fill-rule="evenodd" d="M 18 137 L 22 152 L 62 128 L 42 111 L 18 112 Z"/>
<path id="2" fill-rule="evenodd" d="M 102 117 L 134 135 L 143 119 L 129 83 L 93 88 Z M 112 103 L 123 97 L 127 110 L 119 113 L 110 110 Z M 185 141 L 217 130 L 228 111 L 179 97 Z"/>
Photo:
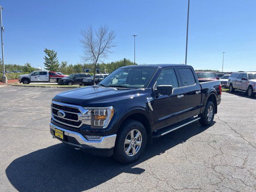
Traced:
<path id="1" fill-rule="evenodd" d="M 83 85 L 83 80 L 90 78 L 88 73 L 71 74 L 59 80 L 59 85 Z"/>

